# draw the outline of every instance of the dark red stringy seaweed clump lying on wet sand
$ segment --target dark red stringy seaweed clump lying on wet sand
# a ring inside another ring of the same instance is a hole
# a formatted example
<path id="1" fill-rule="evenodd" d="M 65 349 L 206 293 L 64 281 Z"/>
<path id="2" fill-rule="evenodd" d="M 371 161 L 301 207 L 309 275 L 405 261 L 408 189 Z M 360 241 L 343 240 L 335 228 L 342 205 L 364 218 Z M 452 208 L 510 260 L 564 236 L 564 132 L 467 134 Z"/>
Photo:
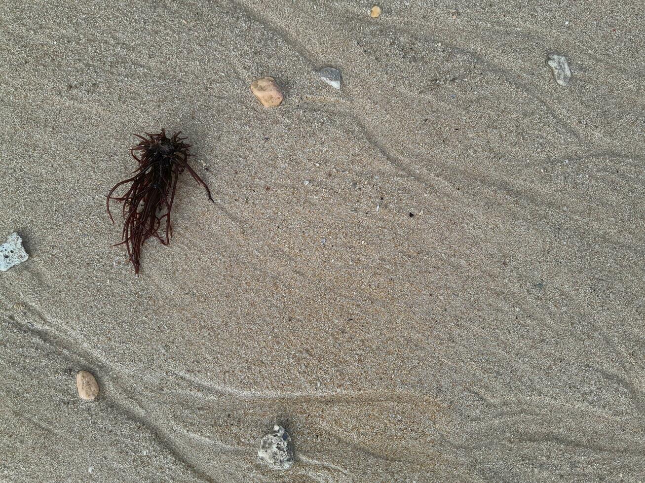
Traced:
<path id="1" fill-rule="evenodd" d="M 135 134 L 141 141 L 130 149 L 132 157 L 139 162 L 139 167 L 132 173 L 134 176 L 115 184 L 106 200 L 112 223 L 114 218 L 110 213 L 110 200 L 123 203 L 123 241 L 114 246 L 126 246 L 128 262 L 132 262 L 136 274 L 141 268 L 141 247 L 148 238 L 157 238 L 163 245 L 170 242 L 170 213 L 177 179 L 184 169 L 204 187 L 208 199 L 213 201 L 206 183 L 188 164 L 188 157 L 192 156 L 191 145 L 184 142 L 186 138 L 179 137 L 181 132 L 175 133 L 172 138 L 166 137 L 165 129 L 161 129 L 159 134 L 145 134 L 147 137 Z M 114 196 L 119 187 L 128 184 L 130 189 L 123 196 Z"/>

